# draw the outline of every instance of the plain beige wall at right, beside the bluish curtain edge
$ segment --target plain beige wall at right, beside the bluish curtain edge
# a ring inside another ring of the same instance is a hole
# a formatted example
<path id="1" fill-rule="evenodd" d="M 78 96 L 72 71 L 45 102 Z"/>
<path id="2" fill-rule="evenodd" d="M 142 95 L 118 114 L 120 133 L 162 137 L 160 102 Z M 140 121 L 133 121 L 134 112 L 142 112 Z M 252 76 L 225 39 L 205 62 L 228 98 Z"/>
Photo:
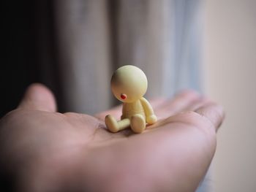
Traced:
<path id="1" fill-rule="evenodd" d="M 206 91 L 226 111 L 214 191 L 256 191 L 256 1 L 206 0 Z"/>

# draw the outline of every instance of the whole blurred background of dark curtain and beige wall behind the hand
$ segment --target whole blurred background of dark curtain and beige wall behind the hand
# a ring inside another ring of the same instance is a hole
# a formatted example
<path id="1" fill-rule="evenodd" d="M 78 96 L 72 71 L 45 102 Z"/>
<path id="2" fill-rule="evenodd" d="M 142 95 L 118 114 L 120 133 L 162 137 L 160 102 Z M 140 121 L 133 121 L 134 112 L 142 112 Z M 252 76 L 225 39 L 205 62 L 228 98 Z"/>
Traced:
<path id="1" fill-rule="evenodd" d="M 3 1 L 0 116 L 31 82 L 59 111 L 117 104 L 110 77 L 139 66 L 147 98 L 192 88 L 222 104 L 212 171 L 198 191 L 256 191 L 255 0 Z"/>

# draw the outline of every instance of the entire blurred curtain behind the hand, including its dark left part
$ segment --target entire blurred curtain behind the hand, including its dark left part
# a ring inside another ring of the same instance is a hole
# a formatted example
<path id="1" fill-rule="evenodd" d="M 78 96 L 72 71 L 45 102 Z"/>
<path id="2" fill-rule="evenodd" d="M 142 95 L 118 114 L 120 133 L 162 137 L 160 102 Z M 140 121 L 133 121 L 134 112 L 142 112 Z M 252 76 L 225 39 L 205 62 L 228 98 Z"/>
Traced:
<path id="1" fill-rule="evenodd" d="M 6 41 L 11 39 L 15 46 L 4 46 L 9 73 L 1 75 L 3 101 L 15 98 L 18 103 L 21 90 L 39 81 L 56 94 L 61 112 L 94 114 L 118 104 L 110 77 L 127 64 L 146 73 L 147 99 L 173 96 L 184 88 L 202 91 L 201 0 L 5 4 Z M 13 107 L 4 107 L 1 114 Z M 207 174 L 197 191 L 208 191 L 210 181 Z"/>

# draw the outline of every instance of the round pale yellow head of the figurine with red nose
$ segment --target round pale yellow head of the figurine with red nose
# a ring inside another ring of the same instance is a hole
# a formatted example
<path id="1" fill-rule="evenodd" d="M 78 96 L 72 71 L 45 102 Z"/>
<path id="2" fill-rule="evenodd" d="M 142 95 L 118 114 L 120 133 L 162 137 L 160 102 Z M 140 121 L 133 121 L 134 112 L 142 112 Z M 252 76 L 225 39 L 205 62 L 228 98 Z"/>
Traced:
<path id="1" fill-rule="evenodd" d="M 121 66 L 114 72 L 111 89 L 116 99 L 132 103 L 140 99 L 148 88 L 146 74 L 137 66 Z"/>

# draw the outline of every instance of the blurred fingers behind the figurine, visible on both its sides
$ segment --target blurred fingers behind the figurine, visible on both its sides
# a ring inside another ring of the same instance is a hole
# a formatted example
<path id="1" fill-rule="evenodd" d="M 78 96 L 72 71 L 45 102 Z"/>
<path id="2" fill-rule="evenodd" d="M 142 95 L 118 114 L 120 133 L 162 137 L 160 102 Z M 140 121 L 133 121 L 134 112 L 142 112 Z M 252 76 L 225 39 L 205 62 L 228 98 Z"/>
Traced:
<path id="1" fill-rule="evenodd" d="M 200 94 L 195 91 L 182 91 L 173 99 L 154 99 L 151 101 L 151 105 L 159 119 L 165 119 L 180 112 L 195 111 L 208 118 L 208 120 L 218 128 L 224 118 L 222 107 L 213 104 L 210 99 L 200 96 Z M 119 119 L 121 117 L 121 105 L 111 110 L 101 112 L 96 115 L 96 117 L 104 120 L 105 116 L 108 114 Z"/>

